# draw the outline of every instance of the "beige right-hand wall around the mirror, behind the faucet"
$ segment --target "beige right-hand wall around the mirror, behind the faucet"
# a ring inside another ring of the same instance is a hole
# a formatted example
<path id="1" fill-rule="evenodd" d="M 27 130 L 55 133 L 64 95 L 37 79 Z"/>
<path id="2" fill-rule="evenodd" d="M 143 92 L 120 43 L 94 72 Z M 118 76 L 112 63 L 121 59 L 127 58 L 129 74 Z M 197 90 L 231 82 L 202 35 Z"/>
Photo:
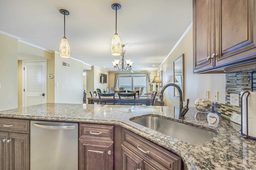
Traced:
<path id="1" fill-rule="evenodd" d="M 194 106 L 197 98 L 204 98 L 205 91 L 210 91 L 210 99 L 214 100 L 214 91 L 219 93 L 219 102 L 225 104 L 225 74 L 194 74 L 193 73 L 193 30 L 192 28 L 179 45 L 160 66 L 163 70 L 163 85 L 173 82 L 173 61 L 184 53 L 185 99 L 190 99 L 189 106 Z M 161 89 L 161 88 L 160 88 Z M 173 97 L 174 88 L 164 91 L 166 106 L 178 106 L 179 100 Z"/>

